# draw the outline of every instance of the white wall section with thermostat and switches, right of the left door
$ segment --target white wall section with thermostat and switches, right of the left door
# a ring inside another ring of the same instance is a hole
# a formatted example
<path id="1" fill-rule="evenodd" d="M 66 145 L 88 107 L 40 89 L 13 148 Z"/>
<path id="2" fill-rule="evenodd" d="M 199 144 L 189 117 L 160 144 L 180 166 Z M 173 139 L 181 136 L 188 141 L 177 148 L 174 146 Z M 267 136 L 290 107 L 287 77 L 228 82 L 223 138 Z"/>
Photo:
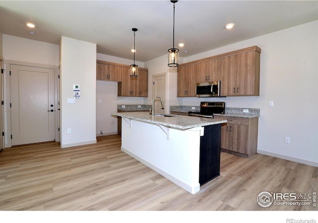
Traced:
<path id="1" fill-rule="evenodd" d="M 63 36 L 60 48 L 61 147 L 96 143 L 96 44 Z M 80 86 L 80 99 L 68 103 L 73 84 Z"/>

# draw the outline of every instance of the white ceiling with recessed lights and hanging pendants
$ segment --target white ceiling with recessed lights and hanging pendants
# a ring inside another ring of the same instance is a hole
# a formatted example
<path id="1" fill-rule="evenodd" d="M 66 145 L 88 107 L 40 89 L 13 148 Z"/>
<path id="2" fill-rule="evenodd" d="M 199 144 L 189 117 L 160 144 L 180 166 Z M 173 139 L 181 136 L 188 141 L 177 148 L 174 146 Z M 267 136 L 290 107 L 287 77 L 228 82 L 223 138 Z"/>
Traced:
<path id="1" fill-rule="evenodd" d="M 317 0 L 179 0 L 175 48 L 187 57 L 318 20 Z M 26 22 L 36 25 L 30 29 Z M 235 23 L 232 30 L 225 24 Z M 61 36 L 97 44 L 97 53 L 146 62 L 172 48 L 170 0 L 0 0 L 3 34 L 59 44 Z M 34 35 L 29 31 L 35 32 Z M 185 46 L 180 48 L 178 43 Z M 184 53 L 183 51 L 188 51 Z"/>

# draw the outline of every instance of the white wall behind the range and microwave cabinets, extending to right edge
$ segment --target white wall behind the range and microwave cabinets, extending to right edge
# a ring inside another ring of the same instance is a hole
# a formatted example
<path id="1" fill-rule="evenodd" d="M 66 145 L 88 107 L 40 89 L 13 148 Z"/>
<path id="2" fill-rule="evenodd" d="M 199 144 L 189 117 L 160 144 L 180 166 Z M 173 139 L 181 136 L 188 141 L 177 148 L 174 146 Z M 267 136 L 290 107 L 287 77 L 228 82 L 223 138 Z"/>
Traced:
<path id="1" fill-rule="evenodd" d="M 313 21 L 184 58 L 187 63 L 257 45 L 262 51 L 260 96 L 170 98 L 169 103 L 199 106 L 207 100 L 225 101 L 226 107 L 260 108 L 258 152 L 318 166 L 317 40 L 318 21 Z M 161 58 L 157 62 L 153 61 L 154 69 Z M 268 106 L 270 100 L 274 107 Z M 290 137 L 290 144 L 284 143 L 285 137 Z"/>

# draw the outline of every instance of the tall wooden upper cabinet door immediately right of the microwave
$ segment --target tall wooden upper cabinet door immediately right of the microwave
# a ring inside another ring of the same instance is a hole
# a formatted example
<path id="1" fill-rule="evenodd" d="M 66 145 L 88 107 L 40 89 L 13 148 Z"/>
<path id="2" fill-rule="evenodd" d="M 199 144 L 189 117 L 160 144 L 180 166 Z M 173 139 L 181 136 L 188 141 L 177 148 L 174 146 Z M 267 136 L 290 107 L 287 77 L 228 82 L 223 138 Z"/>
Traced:
<path id="1" fill-rule="evenodd" d="M 221 95 L 236 95 L 237 55 L 224 57 L 221 59 Z"/>

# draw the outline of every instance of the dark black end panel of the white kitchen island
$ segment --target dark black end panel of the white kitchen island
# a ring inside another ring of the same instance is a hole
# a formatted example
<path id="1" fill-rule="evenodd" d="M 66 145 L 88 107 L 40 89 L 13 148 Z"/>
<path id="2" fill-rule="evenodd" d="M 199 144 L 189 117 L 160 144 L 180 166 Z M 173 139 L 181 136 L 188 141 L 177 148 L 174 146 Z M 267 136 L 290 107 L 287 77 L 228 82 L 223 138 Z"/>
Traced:
<path id="1" fill-rule="evenodd" d="M 220 176 L 221 124 L 204 127 L 200 137 L 200 186 Z"/>

